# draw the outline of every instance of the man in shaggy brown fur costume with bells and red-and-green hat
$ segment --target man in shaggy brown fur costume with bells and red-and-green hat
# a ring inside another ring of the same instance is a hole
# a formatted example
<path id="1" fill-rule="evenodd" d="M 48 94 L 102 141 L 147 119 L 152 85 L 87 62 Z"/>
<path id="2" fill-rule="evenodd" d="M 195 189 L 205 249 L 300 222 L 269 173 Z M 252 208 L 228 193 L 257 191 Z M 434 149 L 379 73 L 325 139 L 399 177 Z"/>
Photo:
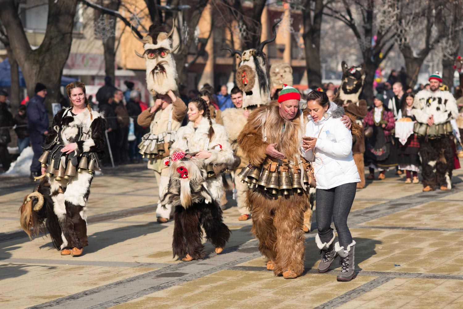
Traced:
<path id="1" fill-rule="evenodd" d="M 251 232 L 268 259 L 267 269 L 293 279 L 304 271 L 302 227 L 309 187 L 304 177 L 308 162 L 301 156 L 300 145 L 308 118 L 299 109 L 299 92 L 284 86 L 278 101 L 250 114 L 238 145 L 252 166 L 246 167 L 250 169 L 247 175 L 241 173 L 250 182 Z"/>

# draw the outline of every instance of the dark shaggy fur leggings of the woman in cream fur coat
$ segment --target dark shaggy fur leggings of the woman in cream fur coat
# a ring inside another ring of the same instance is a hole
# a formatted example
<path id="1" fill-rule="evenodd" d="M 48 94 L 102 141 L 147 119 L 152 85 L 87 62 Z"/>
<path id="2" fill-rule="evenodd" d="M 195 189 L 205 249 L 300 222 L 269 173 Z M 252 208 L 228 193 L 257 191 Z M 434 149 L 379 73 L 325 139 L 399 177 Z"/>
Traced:
<path id="1" fill-rule="evenodd" d="M 206 250 L 201 242 L 203 235 L 201 226 L 206 232 L 206 239 L 214 247 L 225 247 L 230 238 L 230 229 L 222 219 L 222 210 L 217 201 L 206 204 L 196 203 L 187 209 L 178 205 L 174 212 L 174 238 L 172 250 L 175 256 L 180 259 L 187 256 L 187 253 L 194 259 L 204 257 Z"/>

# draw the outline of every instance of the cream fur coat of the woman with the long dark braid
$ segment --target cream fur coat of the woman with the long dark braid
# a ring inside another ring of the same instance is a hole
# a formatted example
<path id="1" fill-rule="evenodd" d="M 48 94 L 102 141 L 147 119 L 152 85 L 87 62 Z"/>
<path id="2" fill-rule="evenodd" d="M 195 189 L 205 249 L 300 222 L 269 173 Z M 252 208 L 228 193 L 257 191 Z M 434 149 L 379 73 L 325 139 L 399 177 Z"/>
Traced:
<path id="1" fill-rule="evenodd" d="M 204 165 L 207 164 L 232 164 L 233 162 L 233 150 L 228 142 L 228 136 L 223 125 L 216 124 L 212 120 L 212 128 L 214 129 L 214 135 L 212 140 L 209 142 L 207 151 L 211 153 L 211 157 L 204 161 Z M 177 131 L 177 140 L 172 145 L 170 154 L 175 151 L 189 150 L 190 153 L 198 152 L 203 150 L 206 145 L 207 133 L 209 132 L 209 121 L 206 117 L 203 117 L 196 131 L 194 130 L 194 122 L 190 121 L 184 127 L 181 127 Z M 222 149 L 216 147 L 221 145 Z M 207 190 L 211 193 L 214 200 L 220 200 L 223 194 L 222 178 L 208 178 L 207 179 Z"/>

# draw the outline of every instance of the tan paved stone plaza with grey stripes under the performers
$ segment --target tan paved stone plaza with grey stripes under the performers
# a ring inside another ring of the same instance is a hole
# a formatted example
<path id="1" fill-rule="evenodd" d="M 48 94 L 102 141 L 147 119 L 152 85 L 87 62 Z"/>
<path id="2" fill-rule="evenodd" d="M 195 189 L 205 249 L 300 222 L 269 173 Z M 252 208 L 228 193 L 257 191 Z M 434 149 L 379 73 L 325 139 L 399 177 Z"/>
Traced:
<path id="1" fill-rule="evenodd" d="M 18 208 L 33 184 L 0 178 L 1 308 L 463 308 L 461 169 L 449 192 L 421 192 L 394 172 L 358 190 L 349 216 L 358 275 L 345 283 L 338 259 L 317 272 L 316 232 L 306 235 L 306 272 L 274 277 L 236 207 L 224 212 L 232 237 L 222 254 L 206 243 L 206 259 L 174 260 L 173 222 L 156 223 L 152 172 L 104 173 L 92 184 L 81 257 L 61 256 L 47 236 L 29 241 Z"/>

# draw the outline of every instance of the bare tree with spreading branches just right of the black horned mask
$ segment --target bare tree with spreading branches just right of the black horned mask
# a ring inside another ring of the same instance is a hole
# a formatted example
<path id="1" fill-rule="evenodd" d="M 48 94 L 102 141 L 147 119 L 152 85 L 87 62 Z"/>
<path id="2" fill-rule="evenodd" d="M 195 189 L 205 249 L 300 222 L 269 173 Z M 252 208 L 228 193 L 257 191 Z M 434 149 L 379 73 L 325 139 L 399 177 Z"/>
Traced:
<path id="1" fill-rule="evenodd" d="M 347 25 L 357 39 L 368 72 L 363 98 L 370 104 L 373 98 L 375 71 L 394 46 L 395 31 L 389 25 L 397 12 L 391 10 L 390 1 L 340 0 L 325 6 L 324 11 L 325 15 Z"/>

